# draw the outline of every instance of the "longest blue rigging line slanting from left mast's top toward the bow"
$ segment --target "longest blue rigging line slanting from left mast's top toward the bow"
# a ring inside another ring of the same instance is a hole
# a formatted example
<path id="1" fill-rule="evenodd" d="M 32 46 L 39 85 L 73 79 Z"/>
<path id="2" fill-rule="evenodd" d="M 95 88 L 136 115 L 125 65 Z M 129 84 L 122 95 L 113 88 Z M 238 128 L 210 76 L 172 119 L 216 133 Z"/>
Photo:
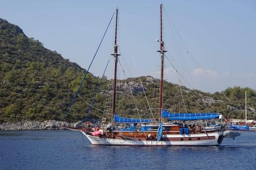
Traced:
<path id="1" fill-rule="evenodd" d="M 71 103 L 69 104 L 69 106 L 68 106 L 68 108 L 67 108 L 67 111 L 64 113 L 64 117 L 67 115 L 69 109 L 71 108 L 71 105 L 73 104 L 73 101 L 75 100 L 77 94 L 79 93 L 79 91 L 80 91 L 80 89 L 81 89 L 81 87 L 82 87 L 82 83 L 84 83 L 84 80 L 85 80 L 85 78 L 86 78 L 86 75 L 89 73 L 90 66 L 92 66 L 92 63 L 93 63 L 93 61 L 94 61 L 94 58 L 96 57 L 96 54 L 98 53 L 98 49 L 100 49 L 101 43 L 102 43 L 102 41 L 104 40 L 104 37 L 105 37 L 105 35 L 106 35 L 106 32 L 107 32 L 108 29 L 109 29 L 109 25 L 110 25 L 110 23 L 112 22 L 112 19 L 113 19 L 114 14 L 115 14 L 115 12 L 113 13 L 112 18 L 110 19 L 110 22 L 109 22 L 109 24 L 108 24 L 108 27 L 106 28 L 106 31 L 105 31 L 105 33 L 104 33 L 104 36 L 103 36 L 102 39 L 101 39 L 100 45 L 98 45 L 98 48 L 97 48 L 97 50 L 96 50 L 96 52 L 95 52 L 95 54 L 94 54 L 94 56 L 93 56 L 92 62 L 90 62 L 90 65 L 89 65 L 87 71 L 85 71 L 84 77 L 82 78 L 82 81 L 81 81 L 81 83 L 80 83 L 80 85 L 79 85 L 79 88 L 77 89 L 77 91 L 76 91 L 76 93 L 75 93 L 73 99 L 71 100 Z"/>

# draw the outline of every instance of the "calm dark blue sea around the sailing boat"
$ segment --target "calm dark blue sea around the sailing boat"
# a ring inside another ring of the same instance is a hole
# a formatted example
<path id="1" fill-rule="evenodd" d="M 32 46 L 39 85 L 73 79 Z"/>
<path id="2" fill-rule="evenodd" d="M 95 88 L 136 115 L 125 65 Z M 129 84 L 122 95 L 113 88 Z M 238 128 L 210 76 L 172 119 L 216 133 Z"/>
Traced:
<path id="1" fill-rule="evenodd" d="M 0 169 L 256 169 L 255 132 L 218 147 L 92 146 L 78 134 L 0 131 Z"/>

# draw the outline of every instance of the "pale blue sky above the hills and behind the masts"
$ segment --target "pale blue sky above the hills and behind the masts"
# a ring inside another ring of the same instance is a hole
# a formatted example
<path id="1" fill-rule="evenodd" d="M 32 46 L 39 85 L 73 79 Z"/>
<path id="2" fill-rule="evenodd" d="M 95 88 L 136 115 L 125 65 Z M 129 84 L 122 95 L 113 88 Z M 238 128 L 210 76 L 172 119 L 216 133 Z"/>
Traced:
<path id="1" fill-rule="evenodd" d="M 118 7 L 118 78 L 159 78 L 160 3 L 168 51 L 165 80 L 211 93 L 234 86 L 256 89 L 255 0 L 0 0 L 0 18 L 88 69 Z M 113 42 L 114 19 L 90 67 L 94 75 L 102 76 Z M 113 78 L 113 62 L 106 76 Z"/>

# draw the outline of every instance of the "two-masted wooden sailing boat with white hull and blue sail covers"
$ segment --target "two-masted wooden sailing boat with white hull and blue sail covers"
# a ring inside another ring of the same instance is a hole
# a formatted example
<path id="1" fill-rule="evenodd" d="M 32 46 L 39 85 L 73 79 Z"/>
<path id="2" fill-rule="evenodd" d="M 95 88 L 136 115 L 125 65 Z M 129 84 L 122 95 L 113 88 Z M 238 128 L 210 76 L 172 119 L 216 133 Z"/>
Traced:
<path id="1" fill-rule="evenodd" d="M 159 117 L 155 119 L 141 118 L 124 118 L 119 117 L 115 112 L 115 98 L 117 91 L 117 63 L 118 63 L 118 45 L 117 45 L 117 26 L 118 26 L 118 8 L 115 11 L 115 34 L 114 34 L 114 80 L 112 94 L 112 116 L 109 126 L 104 128 L 86 127 L 81 130 L 93 145 L 118 145 L 118 146 L 217 146 L 220 145 L 224 138 L 224 131 L 221 126 L 212 128 L 189 128 L 185 123 L 183 125 L 163 122 L 171 121 L 194 121 L 211 118 L 221 118 L 217 113 L 170 113 L 162 108 L 163 101 L 163 66 L 164 66 L 164 49 L 163 41 L 163 5 L 160 4 L 160 100 L 159 100 Z M 105 122 L 105 119 L 102 119 Z M 117 124 L 132 124 L 141 126 L 127 130 L 120 130 L 115 127 Z"/>

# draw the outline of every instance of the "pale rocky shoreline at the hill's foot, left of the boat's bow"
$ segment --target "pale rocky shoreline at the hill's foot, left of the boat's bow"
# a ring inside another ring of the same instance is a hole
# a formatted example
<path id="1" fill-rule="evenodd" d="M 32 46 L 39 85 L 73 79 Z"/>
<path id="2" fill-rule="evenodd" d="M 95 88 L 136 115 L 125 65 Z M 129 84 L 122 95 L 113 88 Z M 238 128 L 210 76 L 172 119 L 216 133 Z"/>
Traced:
<path id="1" fill-rule="evenodd" d="M 77 128 L 82 122 L 68 123 L 64 121 L 47 120 L 39 121 L 20 121 L 20 122 L 3 122 L 0 124 L 0 130 L 65 130 L 61 126 Z"/>

